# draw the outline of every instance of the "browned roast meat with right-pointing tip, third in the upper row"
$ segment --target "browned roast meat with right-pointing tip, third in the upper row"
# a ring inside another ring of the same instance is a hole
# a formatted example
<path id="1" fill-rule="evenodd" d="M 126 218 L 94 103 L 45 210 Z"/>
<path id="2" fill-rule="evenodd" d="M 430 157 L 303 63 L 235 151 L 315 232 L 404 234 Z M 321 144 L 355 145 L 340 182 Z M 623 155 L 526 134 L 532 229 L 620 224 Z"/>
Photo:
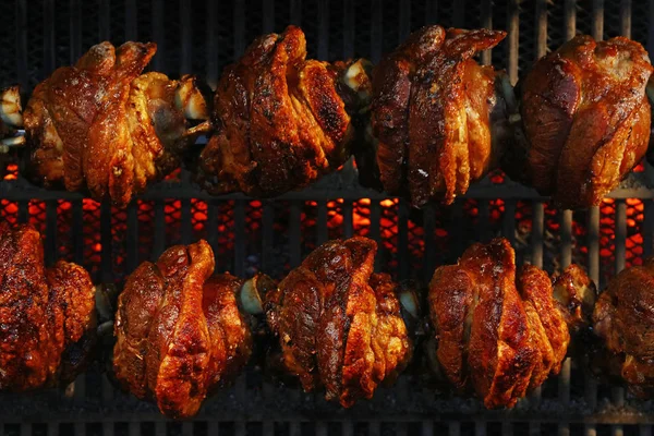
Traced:
<path id="1" fill-rule="evenodd" d="M 424 27 L 373 73 L 372 126 L 384 189 L 408 191 L 411 203 L 447 204 L 495 167 L 504 144 L 493 141 L 495 112 L 506 112 L 493 66 L 475 53 L 495 47 L 500 31 Z"/>

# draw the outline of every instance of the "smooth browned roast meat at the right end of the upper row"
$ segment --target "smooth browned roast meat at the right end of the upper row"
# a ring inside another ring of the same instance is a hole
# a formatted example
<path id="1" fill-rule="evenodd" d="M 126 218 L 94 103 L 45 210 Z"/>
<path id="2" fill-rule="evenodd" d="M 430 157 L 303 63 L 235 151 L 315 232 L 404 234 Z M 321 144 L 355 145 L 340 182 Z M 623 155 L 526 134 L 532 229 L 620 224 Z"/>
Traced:
<path id="1" fill-rule="evenodd" d="M 560 207 L 598 205 L 647 149 L 651 73 L 623 37 L 578 36 L 540 59 L 520 84 L 526 162 L 507 172 Z"/>

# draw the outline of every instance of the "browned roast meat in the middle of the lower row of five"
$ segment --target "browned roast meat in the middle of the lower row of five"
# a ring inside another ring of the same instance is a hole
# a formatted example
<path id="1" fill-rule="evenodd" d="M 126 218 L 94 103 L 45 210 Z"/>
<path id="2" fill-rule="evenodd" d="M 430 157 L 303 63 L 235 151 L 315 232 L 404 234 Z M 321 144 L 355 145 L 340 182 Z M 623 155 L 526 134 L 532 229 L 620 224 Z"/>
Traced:
<path id="1" fill-rule="evenodd" d="M 288 372 L 306 391 L 324 386 L 343 407 L 372 398 L 411 359 L 399 286 L 373 274 L 376 250 L 366 238 L 329 241 L 266 294 Z"/>

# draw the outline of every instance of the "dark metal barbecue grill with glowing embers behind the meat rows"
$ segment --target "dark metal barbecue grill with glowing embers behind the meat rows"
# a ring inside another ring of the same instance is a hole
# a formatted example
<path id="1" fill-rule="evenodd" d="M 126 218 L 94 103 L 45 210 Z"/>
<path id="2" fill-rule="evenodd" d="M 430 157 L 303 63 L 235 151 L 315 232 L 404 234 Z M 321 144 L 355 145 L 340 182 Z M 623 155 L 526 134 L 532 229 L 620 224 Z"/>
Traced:
<path id="1" fill-rule="evenodd" d="M 509 36 L 481 61 L 506 69 L 513 82 L 576 34 L 625 35 L 654 53 L 652 0 L 1 0 L 0 11 L 0 85 L 19 82 L 26 92 L 101 40 L 155 41 L 153 69 L 171 76 L 192 72 L 215 87 L 221 69 L 254 37 L 288 24 L 302 26 L 317 59 L 373 62 L 425 24 L 502 28 Z M 654 170 L 647 164 L 602 206 L 576 213 L 557 210 L 499 172 L 450 207 L 414 210 L 359 185 L 352 162 L 304 191 L 267 201 L 209 196 L 182 169 L 122 210 L 80 193 L 36 187 L 15 156 L 1 159 L 0 219 L 41 231 L 47 264 L 74 261 L 104 283 L 121 282 L 167 246 L 201 238 L 214 247 L 217 271 L 281 277 L 328 239 L 367 235 L 379 245 L 378 270 L 426 282 L 470 243 L 501 234 L 517 249 L 518 264 L 558 271 L 576 262 L 601 288 L 642 263 L 654 245 Z M 192 422 L 169 421 L 153 404 L 116 390 L 100 365 L 68 392 L 0 395 L 5 435 L 651 435 L 653 427 L 652 402 L 597 383 L 570 359 L 559 376 L 508 412 L 438 393 L 415 374 L 343 410 L 319 392 L 282 387 L 257 367 L 207 400 Z"/>

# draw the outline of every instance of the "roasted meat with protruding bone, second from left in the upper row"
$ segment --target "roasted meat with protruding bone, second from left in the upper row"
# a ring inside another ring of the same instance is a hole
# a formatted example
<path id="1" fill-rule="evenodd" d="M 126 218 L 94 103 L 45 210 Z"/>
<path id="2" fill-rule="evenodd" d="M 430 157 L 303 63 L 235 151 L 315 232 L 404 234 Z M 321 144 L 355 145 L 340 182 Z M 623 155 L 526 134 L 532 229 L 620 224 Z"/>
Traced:
<path id="1" fill-rule="evenodd" d="M 306 60 L 304 33 L 256 39 L 226 68 L 214 99 L 199 181 L 211 193 L 275 196 L 306 186 L 350 156 L 366 104 L 366 62 Z"/>

